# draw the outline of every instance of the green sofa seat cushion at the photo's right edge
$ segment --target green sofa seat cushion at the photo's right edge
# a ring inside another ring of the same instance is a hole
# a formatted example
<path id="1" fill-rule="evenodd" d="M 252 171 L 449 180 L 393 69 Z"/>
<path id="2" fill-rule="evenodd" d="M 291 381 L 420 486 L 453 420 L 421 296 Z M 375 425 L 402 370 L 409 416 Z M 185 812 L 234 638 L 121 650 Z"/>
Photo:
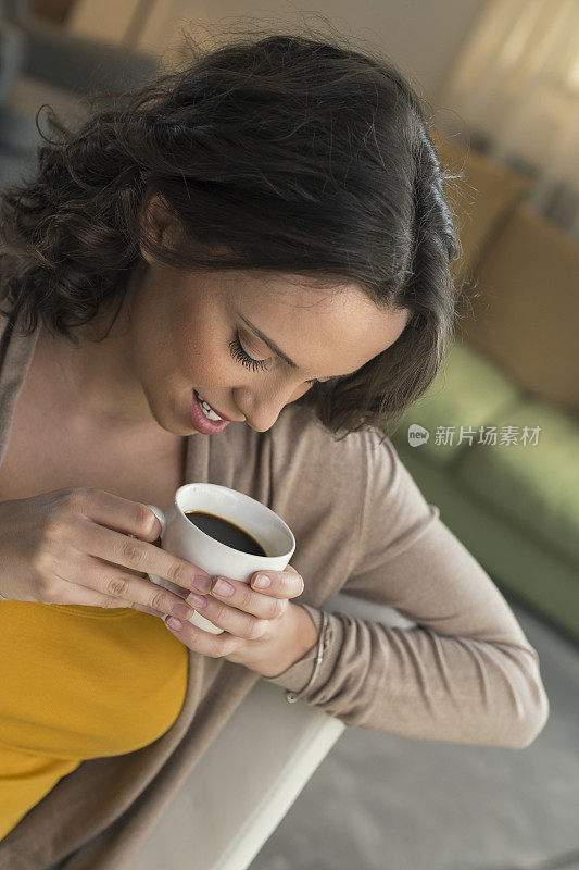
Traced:
<path id="1" fill-rule="evenodd" d="M 455 475 L 519 529 L 579 561 L 579 420 L 521 396 L 487 425 L 498 427 L 496 445 L 465 450 Z M 501 444 L 503 426 L 518 426 L 516 444 Z M 540 426 L 537 445 L 523 444 L 524 426 Z"/>

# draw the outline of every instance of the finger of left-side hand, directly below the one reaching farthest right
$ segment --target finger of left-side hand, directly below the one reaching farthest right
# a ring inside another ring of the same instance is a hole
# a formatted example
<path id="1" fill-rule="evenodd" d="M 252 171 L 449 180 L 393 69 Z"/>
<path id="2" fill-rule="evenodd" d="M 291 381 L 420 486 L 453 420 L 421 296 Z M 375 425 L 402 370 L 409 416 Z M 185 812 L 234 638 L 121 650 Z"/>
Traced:
<path id="1" fill-rule="evenodd" d="M 96 607 L 126 607 L 128 601 L 131 607 L 140 605 L 163 614 L 174 613 L 179 618 L 192 616 L 192 609 L 180 596 L 135 572 L 124 571 L 111 562 L 76 551 L 68 556 L 66 567 L 67 576 L 61 579 L 73 586 L 77 585 L 78 589 L 85 587 L 86 604 L 89 602 L 88 596 L 93 598 L 95 594 L 100 594 L 102 604 L 90 601 Z M 66 601 L 72 602 L 70 592 L 65 593 Z M 78 604 L 85 604 L 79 592 L 75 595 L 79 599 Z M 176 610 L 176 607 L 180 609 Z M 188 608 L 187 613 L 182 612 L 184 607 Z"/>

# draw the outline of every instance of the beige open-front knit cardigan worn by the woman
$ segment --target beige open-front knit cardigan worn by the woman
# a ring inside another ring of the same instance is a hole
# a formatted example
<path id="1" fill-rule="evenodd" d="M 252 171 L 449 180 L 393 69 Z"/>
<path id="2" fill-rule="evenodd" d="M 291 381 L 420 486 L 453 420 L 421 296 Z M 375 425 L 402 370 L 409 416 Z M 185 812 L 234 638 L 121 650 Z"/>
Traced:
<path id="1" fill-rule="evenodd" d="M 0 462 L 38 330 L 0 316 Z M 7 326 L 8 324 L 8 326 Z M 305 408 L 267 432 L 241 424 L 189 439 L 186 482 L 247 493 L 292 529 L 291 564 L 319 627 L 338 592 L 395 608 L 389 627 L 329 614 L 329 648 L 301 703 L 347 725 L 426 741 L 526 747 L 549 717 L 539 658 L 480 564 L 426 502 L 376 428 L 333 442 Z M 1 613 L 1 602 L 0 602 Z M 267 682 L 300 689 L 315 647 Z M 4 662 L 3 667 L 9 667 Z M 64 776 L 0 842 L 0 870 L 128 868 L 167 803 L 260 678 L 190 652 L 181 711 L 154 743 Z M 25 687 L 23 686 L 23 691 Z"/>

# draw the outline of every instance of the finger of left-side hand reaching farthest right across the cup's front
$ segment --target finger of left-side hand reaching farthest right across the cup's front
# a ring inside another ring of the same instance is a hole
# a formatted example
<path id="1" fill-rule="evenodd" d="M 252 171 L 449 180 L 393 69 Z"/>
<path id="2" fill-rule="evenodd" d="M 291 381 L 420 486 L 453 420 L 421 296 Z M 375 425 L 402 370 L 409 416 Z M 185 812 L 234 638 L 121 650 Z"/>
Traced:
<path id="1" fill-rule="evenodd" d="M 97 525 L 91 521 L 83 521 L 77 524 L 76 529 L 75 546 L 77 549 L 112 564 L 129 568 L 139 573 L 154 574 L 169 580 L 185 589 L 193 588 L 196 576 L 210 576 L 206 571 L 193 562 L 179 559 L 153 544 L 137 537 L 129 537 L 129 535 L 113 529 Z M 140 601 L 140 604 L 147 602 Z"/>

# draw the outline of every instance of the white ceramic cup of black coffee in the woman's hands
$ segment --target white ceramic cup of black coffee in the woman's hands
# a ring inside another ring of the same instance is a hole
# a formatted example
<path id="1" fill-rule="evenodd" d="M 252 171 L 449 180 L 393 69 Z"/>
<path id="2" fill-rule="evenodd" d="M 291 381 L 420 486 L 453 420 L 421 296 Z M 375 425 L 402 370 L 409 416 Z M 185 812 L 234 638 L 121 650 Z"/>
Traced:
<path id="1" fill-rule="evenodd" d="M 282 571 L 295 550 L 295 538 L 284 520 L 273 510 L 251 496 L 213 483 L 187 483 L 175 493 L 166 515 L 155 505 L 147 505 L 161 523 L 161 545 L 164 550 L 193 562 L 212 577 L 217 574 L 249 583 L 255 571 L 269 569 Z M 250 534 L 267 556 L 253 556 L 236 550 L 202 532 L 185 515 L 185 511 L 200 510 L 228 520 Z M 148 575 L 153 583 L 185 598 L 190 589 L 171 580 Z M 211 634 L 223 634 L 209 619 L 197 610 L 189 622 Z"/>

